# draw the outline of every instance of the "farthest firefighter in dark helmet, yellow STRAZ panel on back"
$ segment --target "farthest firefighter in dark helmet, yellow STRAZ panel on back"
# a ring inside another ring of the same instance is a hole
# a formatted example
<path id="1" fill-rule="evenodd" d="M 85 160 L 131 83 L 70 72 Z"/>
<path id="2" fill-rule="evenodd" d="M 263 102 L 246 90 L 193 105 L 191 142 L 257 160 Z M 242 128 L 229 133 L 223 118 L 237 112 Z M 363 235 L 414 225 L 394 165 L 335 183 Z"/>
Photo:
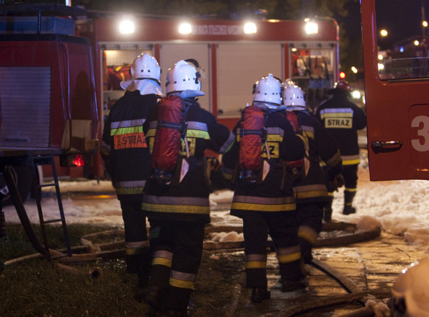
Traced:
<path id="1" fill-rule="evenodd" d="M 331 98 L 317 107 L 315 116 L 333 136 L 340 148 L 343 159 L 343 177 L 345 183 L 343 215 L 356 212 L 352 206 L 357 187 L 357 170 L 360 163 L 357 131 L 366 127 L 366 114 L 349 100 L 349 83 L 341 79 L 326 93 Z M 328 183 L 331 204 L 326 208 L 325 220 L 330 221 L 332 200 L 335 187 Z"/>

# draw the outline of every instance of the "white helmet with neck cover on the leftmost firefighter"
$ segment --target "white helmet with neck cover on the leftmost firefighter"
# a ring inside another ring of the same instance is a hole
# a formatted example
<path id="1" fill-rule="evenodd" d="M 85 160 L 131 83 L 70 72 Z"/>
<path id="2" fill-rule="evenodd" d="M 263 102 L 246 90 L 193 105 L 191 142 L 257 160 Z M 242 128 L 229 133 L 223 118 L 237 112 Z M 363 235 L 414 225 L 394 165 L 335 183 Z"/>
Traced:
<path id="1" fill-rule="evenodd" d="M 122 81 L 121 87 L 127 91 L 140 91 L 141 95 L 151 93 L 162 95 L 160 74 L 161 70 L 158 61 L 153 56 L 144 53 L 137 56 L 133 61 L 133 65 L 130 68 L 131 79 Z"/>

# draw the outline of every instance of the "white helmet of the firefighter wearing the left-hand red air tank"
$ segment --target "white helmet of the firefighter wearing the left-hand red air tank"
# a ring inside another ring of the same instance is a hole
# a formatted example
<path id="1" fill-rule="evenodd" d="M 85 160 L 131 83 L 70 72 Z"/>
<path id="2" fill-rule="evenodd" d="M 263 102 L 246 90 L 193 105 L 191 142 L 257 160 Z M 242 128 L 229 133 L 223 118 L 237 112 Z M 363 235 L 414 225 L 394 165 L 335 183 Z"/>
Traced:
<path id="1" fill-rule="evenodd" d="M 166 92 L 180 93 L 186 98 L 204 95 L 201 91 L 200 72 L 197 65 L 192 65 L 188 61 L 178 61 L 167 72 Z"/>

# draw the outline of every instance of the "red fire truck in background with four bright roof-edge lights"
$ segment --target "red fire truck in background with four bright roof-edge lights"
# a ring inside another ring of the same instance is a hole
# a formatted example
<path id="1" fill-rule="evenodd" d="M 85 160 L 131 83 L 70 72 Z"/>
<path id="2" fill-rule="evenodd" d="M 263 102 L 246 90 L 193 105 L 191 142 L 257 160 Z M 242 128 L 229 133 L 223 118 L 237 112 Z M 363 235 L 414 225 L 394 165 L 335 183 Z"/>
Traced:
<path id="1" fill-rule="evenodd" d="M 121 22 L 133 29 L 121 33 Z M 204 70 L 202 107 L 220 123 L 233 127 L 241 109 L 252 100 L 253 84 L 269 73 L 292 78 L 303 87 L 310 107 L 317 107 L 325 98 L 326 90 L 338 79 L 338 24 L 331 18 L 309 23 L 311 30 L 306 30 L 305 21 L 257 20 L 249 24 L 116 15 L 77 23 L 77 33 L 90 38 L 96 52 L 100 122 L 123 95 L 117 83 L 128 75 L 129 63 L 145 52 L 160 63 L 162 83 L 177 61 L 197 60 Z M 93 173 L 103 177 L 100 157 L 95 163 Z"/>

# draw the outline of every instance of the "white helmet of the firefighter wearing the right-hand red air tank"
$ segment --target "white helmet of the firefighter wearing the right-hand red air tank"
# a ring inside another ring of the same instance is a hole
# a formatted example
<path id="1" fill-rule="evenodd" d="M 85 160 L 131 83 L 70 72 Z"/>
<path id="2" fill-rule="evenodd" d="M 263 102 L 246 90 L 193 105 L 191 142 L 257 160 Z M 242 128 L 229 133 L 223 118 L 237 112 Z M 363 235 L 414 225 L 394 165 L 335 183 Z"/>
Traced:
<path id="1" fill-rule="evenodd" d="M 282 104 L 282 88 L 279 79 L 269 74 L 255 83 L 253 102 L 263 102 L 270 108 L 278 108 Z"/>

